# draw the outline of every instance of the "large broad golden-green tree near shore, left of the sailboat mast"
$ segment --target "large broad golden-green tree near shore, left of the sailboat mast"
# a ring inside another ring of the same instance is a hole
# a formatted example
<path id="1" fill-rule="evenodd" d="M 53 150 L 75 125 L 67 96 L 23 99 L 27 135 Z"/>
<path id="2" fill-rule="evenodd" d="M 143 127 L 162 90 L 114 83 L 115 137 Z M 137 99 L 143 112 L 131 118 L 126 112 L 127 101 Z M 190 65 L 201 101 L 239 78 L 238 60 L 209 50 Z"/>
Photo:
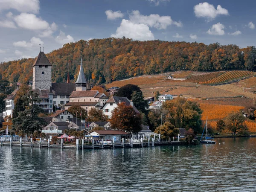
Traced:
<path id="1" fill-rule="evenodd" d="M 163 109 L 167 111 L 166 119 L 177 128 L 192 128 L 195 133 L 201 131 L 202 110 L 197 102 L 187 101 L 178 96 L 176 99 L 163 103 Z"/>

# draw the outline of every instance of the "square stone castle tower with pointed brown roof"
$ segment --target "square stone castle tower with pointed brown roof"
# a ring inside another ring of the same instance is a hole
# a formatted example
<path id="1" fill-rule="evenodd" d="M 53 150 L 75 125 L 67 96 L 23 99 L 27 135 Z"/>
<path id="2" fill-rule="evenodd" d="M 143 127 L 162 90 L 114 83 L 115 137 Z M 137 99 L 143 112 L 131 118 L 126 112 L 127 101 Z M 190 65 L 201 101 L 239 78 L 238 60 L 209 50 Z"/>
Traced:
<path id="1" fill-rule="evenodd" d="M 49 90 L 52 86 L 52 64 L 43 51 L 40 51 L 33 64 L 32 89 Z"/>

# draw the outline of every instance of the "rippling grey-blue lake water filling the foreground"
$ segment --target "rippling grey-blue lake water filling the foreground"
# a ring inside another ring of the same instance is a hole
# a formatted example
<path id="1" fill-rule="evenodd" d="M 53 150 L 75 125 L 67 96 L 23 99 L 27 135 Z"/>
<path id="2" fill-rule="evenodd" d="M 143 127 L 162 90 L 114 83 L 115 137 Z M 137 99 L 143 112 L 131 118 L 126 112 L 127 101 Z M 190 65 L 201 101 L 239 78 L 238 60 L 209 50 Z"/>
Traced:
<path id="1" fill-rule="evenodd" d="M 255 192 L 256 138 L 215 141 L 83 151 L 0 146 L 0 191 Z"/>

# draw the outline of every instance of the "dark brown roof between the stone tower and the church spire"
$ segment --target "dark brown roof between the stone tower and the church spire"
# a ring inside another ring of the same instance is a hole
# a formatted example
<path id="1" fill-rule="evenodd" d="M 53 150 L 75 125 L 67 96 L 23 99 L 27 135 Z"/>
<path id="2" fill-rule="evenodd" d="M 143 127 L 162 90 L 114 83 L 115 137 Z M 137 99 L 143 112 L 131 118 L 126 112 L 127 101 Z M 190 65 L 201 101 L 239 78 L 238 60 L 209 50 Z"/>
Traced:
<path id="1" fill-rule="evenodd" d="M 55 95 L 70 95 L 75 88 L 76 84 L 74 83 L 52 83 Z"/>

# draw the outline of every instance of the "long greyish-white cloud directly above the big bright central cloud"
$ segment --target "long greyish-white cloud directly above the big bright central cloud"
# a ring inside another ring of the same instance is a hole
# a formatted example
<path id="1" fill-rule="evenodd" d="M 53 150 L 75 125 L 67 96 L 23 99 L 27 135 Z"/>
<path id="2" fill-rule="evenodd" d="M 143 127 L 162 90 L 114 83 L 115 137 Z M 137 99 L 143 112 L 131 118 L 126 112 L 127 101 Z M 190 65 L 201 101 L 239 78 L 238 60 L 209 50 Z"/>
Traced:
<path id="1" fill-rule="evenodd" d="M 150 27 L 155 27 L 157 29 L 166 29 L 167 26 L 174 24 L 178 27 L 182 26 L 182 23 L 179 21 L 173 21 L 170 16 L 160 16 L 158 14 L 151 14 L 149 16 L 140 15 L 138 10 L 132 11 L 129 15 L 129 18 L 132 23 L 135 24 L 145 24 Z"/>

